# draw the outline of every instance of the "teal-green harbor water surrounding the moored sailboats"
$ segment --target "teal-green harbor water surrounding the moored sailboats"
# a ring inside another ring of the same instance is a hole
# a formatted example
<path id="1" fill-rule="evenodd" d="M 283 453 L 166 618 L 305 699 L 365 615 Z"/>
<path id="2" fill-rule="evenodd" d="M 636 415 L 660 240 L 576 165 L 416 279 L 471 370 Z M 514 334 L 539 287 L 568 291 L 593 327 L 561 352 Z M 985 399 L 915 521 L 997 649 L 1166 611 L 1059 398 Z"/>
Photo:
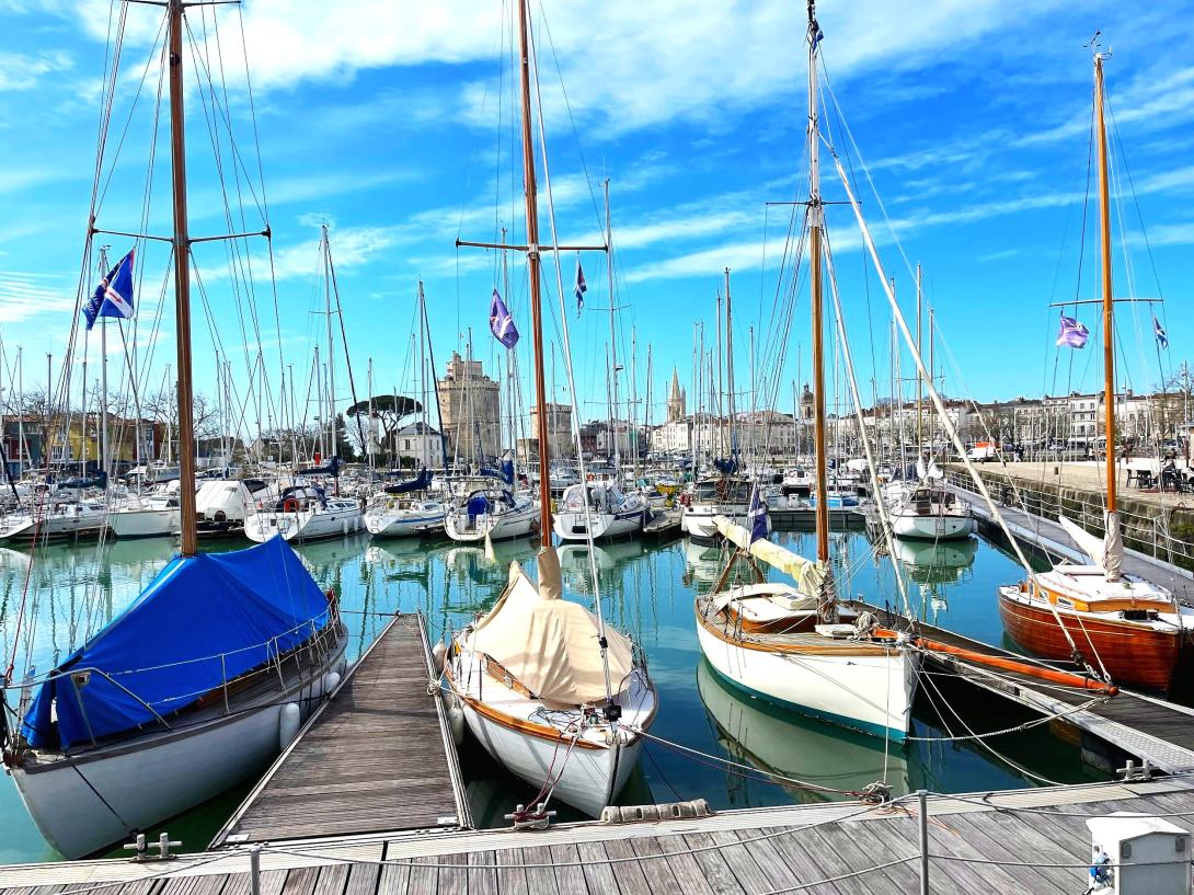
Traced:
<path id="1" fill-rule="evenodd" d="M 811 533 L 780 531 L 773 539 L 804 555 L 814 547 Z M 16 638 L 14 677 L 44 672 L 68 655 L 133 601 L 174 549 L 168 539 L 48 545 L 38 548 L 32 567 L 32 551 L 0 550 L 0 643 L 7 662 Z M 493 605 L 510 562 L 533 568 L 536 550 L 534 539 L 497 543 L 492 561 L 481 548 L 375 542 L 364 536 L 297 548 L 315 580 L 339 595 L 352 632 L 352 658 L 395 611 L 421 611 L 436 638 L 458 629 Z M 897 554 L 907 570 L 913 612 L 960 634 L 1010 646 L 995 599 L 997 585 L 1022 574 L 1009 556 L 977 539 L 941 545 L 901 542 Z M 595 591 L 601 593 L 607 618 L 642 646 L 659 691 L 652 734 L 667 743 L 647 745 L 622 792 L 624 804 L 703 797 L 714 809 L 749 808 L 845 798 L 843 791 L 878 780 L 900 794 L 1101 779 L 1079 761 L 1072 745 L 1053 739 L 1044 724 L 989 741 L 952 739 L 1014 727 L 1032 716 L 938 675 L 925 678 L 917 695 L 911 736 L 923 739 L 901 745 L 744 696 L 702 660 L 696 640 L 693 601 L 724 568 L 726 557 L 718 548 L 688 541 L 621 542 L 598 545 L 592 554 L 587 547 L 565 547 L 560 555 L 566 594 L 591 604 Z M 835 532 L 832 555 L 842 597 L 903 605 L 891 560 L 876 556 L 863 533 Z M 506 825 L 504 815 L 534 795 L 468 740 L 461 747 L 461 765 L 479 826 Z M 165 828 L 183 840 L 184 850 L 202 850 L 247 789 L 213 794 L 210 802 Z M 556 808 L 561 820 L 578 819 Z M 0 863 L 56 858 L 6 776 L 0 782 Z"/>

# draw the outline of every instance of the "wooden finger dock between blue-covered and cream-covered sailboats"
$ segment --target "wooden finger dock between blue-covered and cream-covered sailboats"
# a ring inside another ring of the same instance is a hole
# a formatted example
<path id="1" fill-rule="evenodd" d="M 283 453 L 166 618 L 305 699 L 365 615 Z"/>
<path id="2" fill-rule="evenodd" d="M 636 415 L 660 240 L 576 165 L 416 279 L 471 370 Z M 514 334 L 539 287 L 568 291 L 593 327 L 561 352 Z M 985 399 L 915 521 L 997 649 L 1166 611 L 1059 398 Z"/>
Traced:
<path id="1" fill-rule="evenodd" d="M 421 615 L 395 616 L 211 847 L 470 827 Z"/>

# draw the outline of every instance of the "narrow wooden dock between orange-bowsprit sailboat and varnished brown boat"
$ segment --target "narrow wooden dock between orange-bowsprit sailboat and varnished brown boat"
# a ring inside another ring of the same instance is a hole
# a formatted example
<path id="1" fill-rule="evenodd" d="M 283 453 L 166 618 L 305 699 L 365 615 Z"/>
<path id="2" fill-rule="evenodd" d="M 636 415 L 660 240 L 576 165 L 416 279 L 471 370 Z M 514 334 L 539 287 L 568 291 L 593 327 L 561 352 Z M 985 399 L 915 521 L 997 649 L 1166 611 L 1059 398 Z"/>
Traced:
<path id="1" fill-rule="evenodd" d="M 867 604 L 856 605 L 874 612 L 880 624 L 888 628 L 907 630 L 910 626 L 901 615 Z M 916 628 L 925 637 L 984 655 L 1035 661 L 923 622 L 918 622 Z M 1014 699 L 1045 715 L 1063 716 L 1051 723 L 1067 726 L 1076 733 L 1110 743 L 1167 773 L 1194 771 L 1194 709 L 1127 690 L 1121 690 L 1116 696 L 1089 708 L 1077 709 L 1090 703 L 1093 693 L 1048 685 L 1028 674 L 997 671 L 941 653 L 930 654 L 929 661 L 992 693 Z M 1048 662 L 1047 666 L 1078 671 L 1065 662 Z M 1095 743 L 1089 740 L 1083 743 L 1083 748 L 1088 758 L 1097 758 L 1100 754 Z"/>

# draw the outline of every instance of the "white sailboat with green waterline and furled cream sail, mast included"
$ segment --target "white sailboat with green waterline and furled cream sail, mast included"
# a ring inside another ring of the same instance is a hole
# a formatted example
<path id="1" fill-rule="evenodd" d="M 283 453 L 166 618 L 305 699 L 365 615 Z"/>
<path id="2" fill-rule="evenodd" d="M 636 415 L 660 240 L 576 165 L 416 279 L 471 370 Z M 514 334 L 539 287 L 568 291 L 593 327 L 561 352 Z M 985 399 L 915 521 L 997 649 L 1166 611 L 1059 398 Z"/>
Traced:
<path id="1" fill-rule="evenodd" d="M 813 490 L 817 558 L 806 560 L 767 539 L 765 512 L 756 490 L 751 529 L 715 518 L 733 543 L 713 588 L 696 598 L 701 652 L 726 680 L 756 698 L 893 741 L 907 735 L 921 655 L 904 637 L 876 630 L 866 615 L 838 604 L 829 554 L 825 364 L 823 345 L 820 131 L 817 54 L 821 42 L 814 4 L 808 4 L 808 264 L 813 347 Z M 765 579 L 762 561 L 795 579 Z M 732 580 L 739 563 L 752 573 Z"/>

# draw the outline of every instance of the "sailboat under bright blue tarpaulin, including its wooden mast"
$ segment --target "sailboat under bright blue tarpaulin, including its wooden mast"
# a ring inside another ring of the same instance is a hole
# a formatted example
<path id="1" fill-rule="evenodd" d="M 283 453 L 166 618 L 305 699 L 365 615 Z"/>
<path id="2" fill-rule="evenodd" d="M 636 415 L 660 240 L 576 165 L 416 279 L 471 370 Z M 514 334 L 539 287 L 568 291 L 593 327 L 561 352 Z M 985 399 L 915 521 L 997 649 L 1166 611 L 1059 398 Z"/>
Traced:
<path id="1" fill-rule="evenodd" d="M 49 673 L 5 677 L 4 761 L 45 839 L 91 854 L 256 774 L 339 681 L 347 632 L 281 538 L 196 550 L 183 11 L 167 0 L 181 549 Z M 111 82 L 119 84 L 115 72 Z M 94 218 L 92 218 L 94 220 Z M 92 230 L 96 233 L 96 230 Z M 36 556 L 33 557 L 36 561 Z"/>

